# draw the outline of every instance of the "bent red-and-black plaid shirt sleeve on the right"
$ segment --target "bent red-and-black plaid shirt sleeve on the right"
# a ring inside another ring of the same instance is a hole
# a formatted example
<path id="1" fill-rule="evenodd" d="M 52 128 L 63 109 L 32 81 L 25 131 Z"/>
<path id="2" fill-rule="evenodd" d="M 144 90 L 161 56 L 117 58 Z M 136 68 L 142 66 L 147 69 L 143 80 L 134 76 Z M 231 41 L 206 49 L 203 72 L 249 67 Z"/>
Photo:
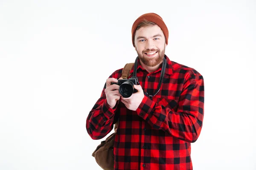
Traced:
<path id="1" fill-rule="evenodd" d="M 201 133 L 204 118 L 203 76 L 192 73 L 186 78 L 177 112 L 144 96 L 137 113 L 155 129 L 164 130 L 186 142 L 195 142 Z"/>

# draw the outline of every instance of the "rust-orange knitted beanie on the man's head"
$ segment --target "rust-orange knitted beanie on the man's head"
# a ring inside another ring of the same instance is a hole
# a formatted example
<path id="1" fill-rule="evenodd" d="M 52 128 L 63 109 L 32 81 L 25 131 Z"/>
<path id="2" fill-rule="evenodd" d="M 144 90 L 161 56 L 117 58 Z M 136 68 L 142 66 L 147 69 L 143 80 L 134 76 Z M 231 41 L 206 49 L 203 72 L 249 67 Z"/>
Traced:
<path id="1" fill-rule="evenodd" d="M 140 17 L 138 17 L 137 20 L 134 21 L 134 24 L 131 28 L 132 44 L 133 44 L 134 47 L 135 47 L 135 45 L 134 45 L 134 34 L 135 34 L 135 31 L 136 31 L 136 28 L 143 20 L 148 20 L 148 21 L 151 21 L 153 23 L 156 23 L 157 26 L 159 26 L 162 29 L 163 34 L 166 37 L 166 44 L 168 44 L 169 31 L 168 31 L 167 26 L 163 22 L 163 19 L 155 13 L 147 13 L 147 14 L 143 14 Z"/>

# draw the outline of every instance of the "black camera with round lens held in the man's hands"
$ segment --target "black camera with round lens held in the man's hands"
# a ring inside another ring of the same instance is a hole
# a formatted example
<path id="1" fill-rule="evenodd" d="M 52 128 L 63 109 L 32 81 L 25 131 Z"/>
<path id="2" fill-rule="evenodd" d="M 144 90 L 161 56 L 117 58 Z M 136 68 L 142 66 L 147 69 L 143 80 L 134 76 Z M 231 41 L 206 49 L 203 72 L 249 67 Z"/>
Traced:
<path id="1" fill-rule="evenodd" d="M 119 79 L 118 82 L 111 82 L 111 84 L 119 85 L 119 93 L 124 98 L 128 98 L 137 92 L 137 90 L 134 88 L 134 85 L 140 85 L 140 82 L 138 77 L 131 77 L 130 79 Z"/>

